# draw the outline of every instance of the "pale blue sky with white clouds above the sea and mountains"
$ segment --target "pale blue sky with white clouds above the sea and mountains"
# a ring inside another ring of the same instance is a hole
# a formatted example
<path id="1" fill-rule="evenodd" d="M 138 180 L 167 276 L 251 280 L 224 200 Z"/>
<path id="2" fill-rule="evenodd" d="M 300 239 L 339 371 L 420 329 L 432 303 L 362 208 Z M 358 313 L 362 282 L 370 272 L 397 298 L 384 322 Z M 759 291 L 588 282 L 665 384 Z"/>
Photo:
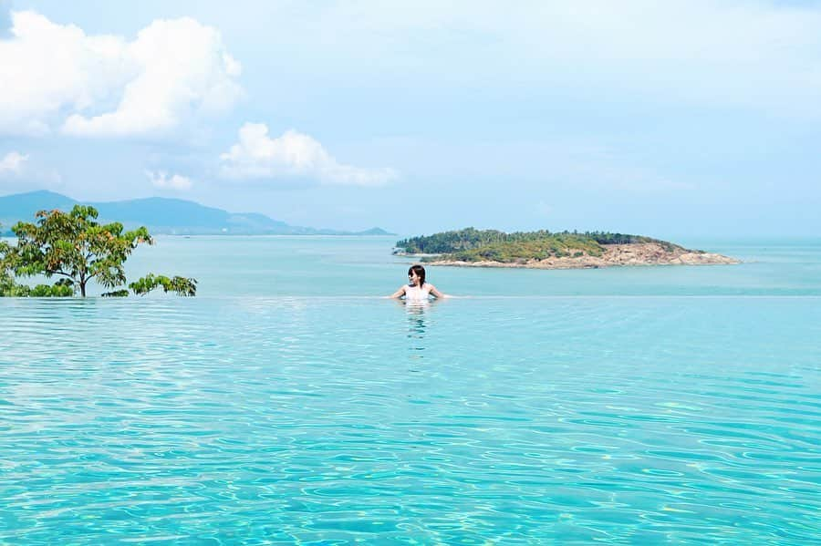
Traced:
<path id="1" fill-rule="evenodd" d="M 0 194 L 821 236 L 821 2 L 0 0 Z"/>

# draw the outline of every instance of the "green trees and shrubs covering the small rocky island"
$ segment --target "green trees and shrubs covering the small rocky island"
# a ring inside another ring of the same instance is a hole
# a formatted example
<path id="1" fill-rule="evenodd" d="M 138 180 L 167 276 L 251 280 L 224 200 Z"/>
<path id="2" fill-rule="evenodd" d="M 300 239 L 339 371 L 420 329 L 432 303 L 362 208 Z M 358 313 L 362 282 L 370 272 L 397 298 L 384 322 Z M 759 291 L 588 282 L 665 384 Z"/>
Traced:
<path id="1" fill-rule="evenodd" d="M 639 242 L 657 242 L 668 251 L 678 248 L 670 242 L 624 233 L 552 233 L 546 230 L 505 233 L 474 228 L 411 237 L 397 242 L 396 246 L 412 254 L 439 254 L 436 258 L 425 258 L 423 261 L 446 259 L 462 262 L 524 263 L 550 257 L 600 256 L 605 250 L 602 245 Z"/>

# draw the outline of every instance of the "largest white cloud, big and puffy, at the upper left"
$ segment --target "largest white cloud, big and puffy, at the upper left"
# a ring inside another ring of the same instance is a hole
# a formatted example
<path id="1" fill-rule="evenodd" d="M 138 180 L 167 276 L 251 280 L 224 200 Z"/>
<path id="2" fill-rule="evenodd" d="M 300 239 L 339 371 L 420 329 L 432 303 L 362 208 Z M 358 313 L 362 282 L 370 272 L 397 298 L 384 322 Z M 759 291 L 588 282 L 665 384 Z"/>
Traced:
<path id="1" fill-rule="evenodd" d="M 191 18 L 157 20 L 136 39 L 88 36 L 35 12 L 12 14 L 0 39 L 0 131 L 150 135 L 230 108 L 240 65 L 219 32 Z"/>

